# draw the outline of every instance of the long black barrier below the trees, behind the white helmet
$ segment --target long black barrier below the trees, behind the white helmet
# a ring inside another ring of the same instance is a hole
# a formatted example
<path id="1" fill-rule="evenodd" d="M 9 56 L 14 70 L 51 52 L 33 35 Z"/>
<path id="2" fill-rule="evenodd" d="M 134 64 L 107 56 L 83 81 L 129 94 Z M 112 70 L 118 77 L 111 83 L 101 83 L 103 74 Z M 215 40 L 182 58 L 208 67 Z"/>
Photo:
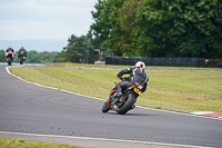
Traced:
<path id="1" fill-rule="evenodd" d="M 123 58 L 105 57 L 105 65 L 134 66 L 137 61 L 143 61 L 147 66 L 167 67 L 205 67 L 203 58 Z"/>

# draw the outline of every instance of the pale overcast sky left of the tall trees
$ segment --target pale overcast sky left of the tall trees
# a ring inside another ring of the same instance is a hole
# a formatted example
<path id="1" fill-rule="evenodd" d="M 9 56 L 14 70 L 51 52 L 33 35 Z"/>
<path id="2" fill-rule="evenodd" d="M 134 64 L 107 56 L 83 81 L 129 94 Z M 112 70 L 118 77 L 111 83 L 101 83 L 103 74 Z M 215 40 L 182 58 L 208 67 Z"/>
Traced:
<path id="1" fill-rule="evenodd" d="M 0 40 L 87 34 L 97 0 L 0 0 Z"/>

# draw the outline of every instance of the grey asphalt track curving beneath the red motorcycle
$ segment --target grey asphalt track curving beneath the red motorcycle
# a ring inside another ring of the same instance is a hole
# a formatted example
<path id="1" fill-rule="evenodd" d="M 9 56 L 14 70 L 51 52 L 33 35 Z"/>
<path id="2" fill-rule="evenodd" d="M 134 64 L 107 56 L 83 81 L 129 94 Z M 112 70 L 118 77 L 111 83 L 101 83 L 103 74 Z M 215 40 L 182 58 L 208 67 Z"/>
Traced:
<path id="1" fill-rule="evenodd" d="M 222 147 L 221 119 L 141 107 L 102 114 L 103 100 L 28 83 L 6 67 L 0 65 L 0 137 L 105 148 Z"/>

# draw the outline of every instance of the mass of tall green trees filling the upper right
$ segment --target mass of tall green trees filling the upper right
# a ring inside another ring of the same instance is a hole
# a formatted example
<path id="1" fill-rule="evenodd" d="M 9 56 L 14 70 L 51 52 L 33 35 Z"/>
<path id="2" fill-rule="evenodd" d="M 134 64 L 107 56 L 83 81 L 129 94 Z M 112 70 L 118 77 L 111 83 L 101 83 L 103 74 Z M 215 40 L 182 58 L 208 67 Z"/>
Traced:
<path id="1" fill-rule="evenodd" d="M 98 0 L 92 45 L 123 57 L 222 58 L 221 0 Z"/>

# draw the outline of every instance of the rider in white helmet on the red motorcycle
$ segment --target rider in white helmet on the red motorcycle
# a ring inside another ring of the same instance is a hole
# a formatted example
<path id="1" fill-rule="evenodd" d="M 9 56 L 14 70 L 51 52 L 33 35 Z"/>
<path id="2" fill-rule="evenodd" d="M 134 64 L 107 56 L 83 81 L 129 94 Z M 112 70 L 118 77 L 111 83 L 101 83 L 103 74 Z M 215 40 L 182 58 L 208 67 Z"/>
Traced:
<path id="1" fill-rule="evenodd" d="M 145 63 L 142 61 L 138 61 L 135 63 L 135 67 L 131 67 L 128 69 L 121 70 L 117 76 L 118 78 L 122 79 L 122 76 L 125 73 L 130 73 L 129 81 L 123 81 L 121 83 L 117 85 L 118 89 L 118 97 L 122 95 L 122 89 L 129 88 L 131 85 L 135 83 L 139 86 L 139 89 L 141 89 L 142 92 L 147 90 L 149 77 L 145 73 Z"/>

